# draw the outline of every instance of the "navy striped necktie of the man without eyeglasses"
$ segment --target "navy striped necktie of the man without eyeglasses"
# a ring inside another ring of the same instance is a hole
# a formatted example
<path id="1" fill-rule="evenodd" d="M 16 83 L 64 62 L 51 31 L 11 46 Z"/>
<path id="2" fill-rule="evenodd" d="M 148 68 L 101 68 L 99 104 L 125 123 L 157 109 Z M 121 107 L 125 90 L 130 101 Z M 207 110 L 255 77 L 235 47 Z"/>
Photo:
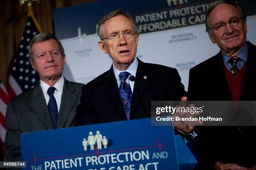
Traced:
<path id="1" fill-rule="evenodd" d="M 48 102 L 48 110 L 51 115 L 51 123 L 54 129 L 56 129 L 58 125 L 58 106 L 54 98 L 55 90 L 56 90 L 55 87 L 49 87 L 49 89 L 47 90 L 47 94 L 50 96 L 50 100 Z"/>

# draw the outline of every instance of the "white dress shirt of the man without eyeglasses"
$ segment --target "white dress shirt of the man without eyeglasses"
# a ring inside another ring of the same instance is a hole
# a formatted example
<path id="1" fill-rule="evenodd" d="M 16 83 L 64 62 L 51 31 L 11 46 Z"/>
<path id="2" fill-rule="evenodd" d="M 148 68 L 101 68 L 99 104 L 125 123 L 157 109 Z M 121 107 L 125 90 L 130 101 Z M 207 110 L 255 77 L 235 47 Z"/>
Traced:
<path id="1" fill-rule="evenodd" d="M 47 90 L 49 89 L 50 86 L 48 84 L 46 84 L 45 82 L 43 82 L 42 80 L 40 80 L 40 85 L 41 85 L 41 88 L 44 93 L 44 98 L 46 100 L 46 104 L 48 105 L 50 96 L 47 94 Z M 59 112 L 59 107 L 61 104 L 61 96 L 62 96 L 63 86 L 64 86 L 64 77 L 61 76 L 59 81 L 56 82 L 56 84 L 53 86 L 56 88 L 56 90 L 54 91 L 54 98 L 57 102 L 58 112 Z"/>

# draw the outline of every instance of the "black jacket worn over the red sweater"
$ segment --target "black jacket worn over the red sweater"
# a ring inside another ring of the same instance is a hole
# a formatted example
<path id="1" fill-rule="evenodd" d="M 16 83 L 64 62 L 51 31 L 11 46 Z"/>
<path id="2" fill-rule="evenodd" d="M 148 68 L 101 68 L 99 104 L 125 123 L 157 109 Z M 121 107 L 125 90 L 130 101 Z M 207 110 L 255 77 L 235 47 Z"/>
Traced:
<path id="1" fill-rule="evenodd" d="M 246 72 L 243 78 L 241 100 L 256 100 L 255 77 L 256 46 L 248 43 Z M 223 101 L 231 100 L 225 76 L 223 57 L 219 52 L 214 57 L 193 67 L 189 72 L 189 100 Z M 204 158 L 223 163 L 236 163 L 251 168 L 256 164 L 255 127 L 198 127 L 195 144 L 205 151 Z M 208 163 L 208 165 L 210 165 Z M 209 167 L 208 167 L 209 168 Z M 210 169 L 210 168 L 209 168 Z"/>

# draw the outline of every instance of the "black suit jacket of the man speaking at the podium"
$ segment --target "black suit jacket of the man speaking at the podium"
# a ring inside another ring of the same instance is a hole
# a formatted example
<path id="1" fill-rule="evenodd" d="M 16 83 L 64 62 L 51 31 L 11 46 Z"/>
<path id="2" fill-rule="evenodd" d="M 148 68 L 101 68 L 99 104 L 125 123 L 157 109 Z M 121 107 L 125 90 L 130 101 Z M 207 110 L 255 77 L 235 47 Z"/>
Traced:
<path id="1" fill-rule="evenodd" d="M 184 95 L 176 69 L 138 60 L 130 119 L 150 117 L 153 100 L 180 100 Z M 74 126 L 127 120 L 113 67 L 83 87 L 77 115 Z"/>

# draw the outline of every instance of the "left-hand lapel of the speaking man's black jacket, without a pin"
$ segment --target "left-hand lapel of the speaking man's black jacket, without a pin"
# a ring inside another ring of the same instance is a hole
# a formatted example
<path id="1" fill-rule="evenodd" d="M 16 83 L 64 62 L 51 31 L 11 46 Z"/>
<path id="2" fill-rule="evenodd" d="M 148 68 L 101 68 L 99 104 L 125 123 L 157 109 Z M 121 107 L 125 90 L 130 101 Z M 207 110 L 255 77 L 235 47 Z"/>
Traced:
<path id="1" fill-rule="evenodd" d="M 123 103 L 121 101 L 118 84 L 115 79 L 115 74 L 113 71 L 113 66 L 108 70 L 105 75 L 105 81 L 103 83 L 105 91 L 107 92 L 111 102 L 113 103 L 116 111 L 120 115 L 122 120 L 126 120 L 125 110 L 123 108 Z"/>

